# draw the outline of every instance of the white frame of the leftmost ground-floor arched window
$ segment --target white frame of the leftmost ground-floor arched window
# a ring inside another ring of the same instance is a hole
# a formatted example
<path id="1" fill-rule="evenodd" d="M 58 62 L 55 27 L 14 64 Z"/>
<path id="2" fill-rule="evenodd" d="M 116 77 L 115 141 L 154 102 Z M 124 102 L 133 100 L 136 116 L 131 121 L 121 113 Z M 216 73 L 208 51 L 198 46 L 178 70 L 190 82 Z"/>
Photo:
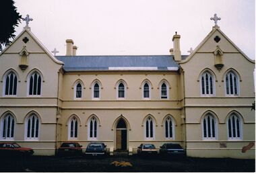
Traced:
<path id="1" fill-rule="evenodd" d="M 7 122 L 7 117 L 9 117 L 11 120 L 10 120 L 10 124 L 8 125 L 8 122 Z M 5 122 L 6 120 L 6 122 Z M 4 126 L 4 122 L 6 123 L 5 126 Z M 12 125 L 12 122 L 13 122 L 13 125 Z M 11 137 L 7 137 L 7 127 L 9 126 L 9 129 L 10 129 L 10 132 L 9 134 L 11 135 L 11 129 L 13 128 L 13 136 Z M 5 116 L 3 116 L 3 118 L 1 119 L 1 135 L 0 135 L 0 138 L 1 140 L 14 140 L 14 136 L 15 136 L 15 126 L 16 126 L 16 123 L 15 123 L 15 119 L 13 117 L 12 114 L 5 114 Z M 3 130 L 3 128 L 5 127 L 5 130 Z M 3 133 L 5 131 L 5 136 L 3 136 Z"/>

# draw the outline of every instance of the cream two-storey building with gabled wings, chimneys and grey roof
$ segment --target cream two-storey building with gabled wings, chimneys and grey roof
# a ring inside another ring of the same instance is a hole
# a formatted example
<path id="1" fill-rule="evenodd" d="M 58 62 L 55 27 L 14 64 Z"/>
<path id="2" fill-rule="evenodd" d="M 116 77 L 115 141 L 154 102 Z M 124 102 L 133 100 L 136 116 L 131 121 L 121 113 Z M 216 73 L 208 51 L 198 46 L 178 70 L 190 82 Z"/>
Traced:
<path id="1" fill-rule="evenodd" d="M 53 56 L 26 26 L 0 54 L 0 141 L 55 155 L 65 141 L 137 153 L 181 144 L 190 157 L 255 158 L 253 70 L 216 25 L 188 56 Z"/>

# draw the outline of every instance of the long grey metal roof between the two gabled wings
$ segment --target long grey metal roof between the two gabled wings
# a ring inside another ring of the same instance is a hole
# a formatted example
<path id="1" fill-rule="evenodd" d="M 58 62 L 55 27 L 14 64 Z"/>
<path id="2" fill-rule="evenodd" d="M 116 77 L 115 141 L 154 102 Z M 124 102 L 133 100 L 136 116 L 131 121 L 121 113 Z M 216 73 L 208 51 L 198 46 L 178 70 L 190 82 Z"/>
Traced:
<path id="1" fill-rule="evenodd" d="M 179 64 L 173 56 L 55 56 L 64 62 L 65 71 L 106 70 L 169 70 L 177 71 Z"/>

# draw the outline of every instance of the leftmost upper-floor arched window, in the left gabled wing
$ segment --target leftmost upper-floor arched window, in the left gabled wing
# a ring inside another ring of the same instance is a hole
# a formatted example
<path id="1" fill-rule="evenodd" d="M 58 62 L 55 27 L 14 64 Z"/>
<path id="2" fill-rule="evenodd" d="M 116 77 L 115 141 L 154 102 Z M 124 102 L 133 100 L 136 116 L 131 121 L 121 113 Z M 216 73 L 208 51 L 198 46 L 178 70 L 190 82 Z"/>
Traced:
<path id="1" fill-rule="evenodd" d="M 15 73 L 9 73 L 5 78 L 5 95 L 16 95 L 17 94 L 17 83 L 18 79 Z"/>

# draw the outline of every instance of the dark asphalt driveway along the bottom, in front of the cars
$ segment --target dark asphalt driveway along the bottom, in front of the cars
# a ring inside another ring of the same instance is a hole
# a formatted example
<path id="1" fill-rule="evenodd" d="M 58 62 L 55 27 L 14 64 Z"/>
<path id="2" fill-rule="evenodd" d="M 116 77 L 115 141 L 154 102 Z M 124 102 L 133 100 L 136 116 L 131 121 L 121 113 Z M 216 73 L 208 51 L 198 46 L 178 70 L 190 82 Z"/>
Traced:
<path id="1" fill-rule="evenodd" d="M 254 159 L 162 159 L 136 155 L 104 158 L 33 156 L 1 159 L 0 164 L 1 172 L 255 172 Z"/>

